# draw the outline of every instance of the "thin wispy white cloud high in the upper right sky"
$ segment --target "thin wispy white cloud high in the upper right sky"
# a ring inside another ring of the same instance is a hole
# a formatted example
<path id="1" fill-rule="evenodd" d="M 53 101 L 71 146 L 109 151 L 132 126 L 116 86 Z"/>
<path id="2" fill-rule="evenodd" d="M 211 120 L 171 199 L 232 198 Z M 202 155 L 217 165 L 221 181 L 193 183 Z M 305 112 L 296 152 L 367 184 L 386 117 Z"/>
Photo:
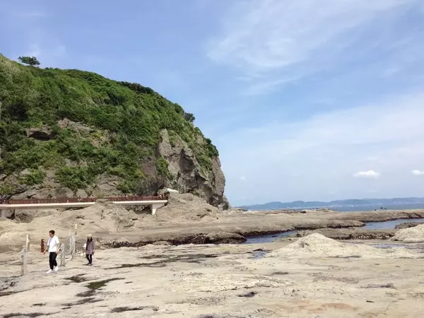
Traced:
<path id="1" fill-rule="evenodd" d="M 276 86 L 310 76 L 391 41 L 352 45 L 362 28 L 376 18 L 420 0 L 261 0 L 232 1 L 223 28 L 208 42 L 208 57 L 240 69 L 252 82 L 247 93 L 266 93 Z M 368 28 L 367 30 L 372 30 Z M 402 49 L 398 47 L 397 49 Z M 352 56 L 355 52 L 355 56 Z M 399 68 L 399 66 L 396 66 Z M 391 75 L 395 69 L 383 73 Z"/>

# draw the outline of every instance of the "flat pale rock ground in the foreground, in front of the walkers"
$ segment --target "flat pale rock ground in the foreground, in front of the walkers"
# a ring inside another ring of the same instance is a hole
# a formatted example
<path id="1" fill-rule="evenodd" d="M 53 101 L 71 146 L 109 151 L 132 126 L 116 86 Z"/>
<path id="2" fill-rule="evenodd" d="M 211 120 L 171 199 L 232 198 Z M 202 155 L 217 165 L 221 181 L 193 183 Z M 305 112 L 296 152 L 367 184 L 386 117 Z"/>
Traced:
<path id="1" fill-rule="evenodd" d="M 0 292 L 0 317 L 418 318 L 424 254 L 411 251 L 314 235 L 257 245 L 146 245 L 100 250 L 91 267 L 77 257 L 49 275 L 47 255 L 31 252 L 27 276 L 15 277 L 19 266 L 0 268 L 4 284 L 14 284 Z"/>

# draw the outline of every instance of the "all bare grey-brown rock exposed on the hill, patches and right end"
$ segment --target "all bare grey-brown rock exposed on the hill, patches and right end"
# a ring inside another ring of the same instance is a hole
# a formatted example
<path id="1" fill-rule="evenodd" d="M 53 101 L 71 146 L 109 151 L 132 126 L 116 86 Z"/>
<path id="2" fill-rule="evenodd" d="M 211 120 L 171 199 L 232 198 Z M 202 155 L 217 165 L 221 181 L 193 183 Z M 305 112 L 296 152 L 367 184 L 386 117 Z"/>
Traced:
<path id="1" fill-rule="evenodd" d="M 64 119 L 59 124 L 61 126 L 66 124 L 66 127 L 72 126 L 74 129 L 76 129 L 75 127 L 78 127 L 78 129 L 83 127 L 85 130 L 95 132 L 95 129 L 90 129 L 88 126 L 69 121 L 69 119 Z M 40 141 L 53 138 L 51 132 L 47 131 L 47 129 L 28 129 L 28 137 L 39 139 Z M 155 194 L 159 187 L 168 187 L 176 189 L 179 193 L 191 193 L 200 196 L 208 204 L 220 209 L 227 210 L 230 208 L 228 199 L 224 195 L 225 175 L 223 170 L 221 170 L 218 156 L 211 160 L 211 169 L 206 170 L 196 160 L 192 149 L 179 136 L 174 136 L 171 143 L 168 131 L 163 129 L 160 131 L 160 139 L 161 141 L 156 148 L 155 158 L 163 158 L 165 160 L 167 175 L 163 179 L 163 184 L 157 184 L 157 187 L 153 186 L 151 189 L 148 189 L 150 192 L 148 194 Z M 203 140 L 199 139 L 199 143 L 201 142 Z M 150 177 L 155 177 L 159 173 L 153 162 L 154 160 L 146 160 L 143 165 L 143 170 Z M 67 160 L 66 165 L 73 166 L 76 163 Z M 78 189 L 76 192 L 59 184 L 55 180 L 53 170 L 42 170 L 42 173 L 44 178 L 40 184 L 28 185 L 20 182 L 25 176 L 31 175 L 31 171 L 28 169 L 21 171 L 19 175 L 1 175 L 0 181 L 3 184 L 11 184 L 15 188 L 15 191 L 10 196 L 7 196 L 11 199 L 42 199 L 73 196 L 84 198 L 91 194 L 96 197 L 123 194 L 117 189 L 119 178 L 107 175 L 106 173 L 100 175 L 92 186 L 87 189 Z"/>

